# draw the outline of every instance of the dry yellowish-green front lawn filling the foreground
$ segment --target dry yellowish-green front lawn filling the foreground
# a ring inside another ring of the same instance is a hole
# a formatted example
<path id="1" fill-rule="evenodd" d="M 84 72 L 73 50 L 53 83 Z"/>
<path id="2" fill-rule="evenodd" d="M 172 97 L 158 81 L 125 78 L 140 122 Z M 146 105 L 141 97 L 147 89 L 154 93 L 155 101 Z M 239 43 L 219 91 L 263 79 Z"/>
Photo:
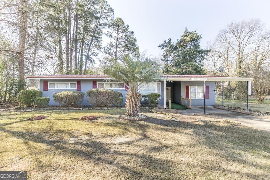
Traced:
<path id="1" fill-rule="evenodd" d="M 270 133 L 239 124 L 119 119 L 125 110 L 0 114 L 0 171 L 29 179 L 269 179 Z M 32 115 L 46 119 L 29 121 Z M 97 120 L 78 120 L 95 115 Z M 187 117 L 189 118 L 189 117 Z"/>

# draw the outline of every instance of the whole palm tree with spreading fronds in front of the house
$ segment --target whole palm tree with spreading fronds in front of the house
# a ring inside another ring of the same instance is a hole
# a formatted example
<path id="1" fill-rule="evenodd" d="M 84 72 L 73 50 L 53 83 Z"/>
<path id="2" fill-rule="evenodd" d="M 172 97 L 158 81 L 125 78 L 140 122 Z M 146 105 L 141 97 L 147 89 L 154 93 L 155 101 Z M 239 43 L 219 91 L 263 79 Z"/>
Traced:
<path id="1" fill-rule="evenodd" d="M 113 79 L 125 83 L 128 88 L 126 94 L 127 116 L 139 116 L 141 93 L 139 86 L 155 81 L 165 80 L 158 73 L 156 58 L 138 53 L 132 57 L 129 54 L 119 57 L 115 61 L 103 66 L 102 71 Z"/>

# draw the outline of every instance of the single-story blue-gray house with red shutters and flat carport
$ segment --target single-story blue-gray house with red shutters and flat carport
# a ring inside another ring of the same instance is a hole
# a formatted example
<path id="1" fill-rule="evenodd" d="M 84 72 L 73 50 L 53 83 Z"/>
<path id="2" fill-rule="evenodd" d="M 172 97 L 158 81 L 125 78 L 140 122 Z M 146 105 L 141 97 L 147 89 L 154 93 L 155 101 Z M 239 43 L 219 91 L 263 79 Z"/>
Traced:
<path id="1" fill-rule="evenodd" d="M 181 99 L 191 99 L 192 106 L 204 105 L 204 86 L 206 106 L 215 105 L 215 82 L 216 81 L 251 81 L 252 78 L 239 78 L 227 76 L 207 75 L 163 75 L 166 80 L 150 83 L 139 87 L 142 94 L 160 93 L 159 104 L 166 108 L 166 98 L 172 102 L 181 104 Z M 106 88 L 119 91 L 123 94 L 123 105 L 127 88 L 124 83 L 110 82 L 107 75 L 44 75 L 30 76 L 28 79 L 38 79 L 40 91 L 44 97 L 49 97 L 49 105 L 59 105 L 53 101 L 53 94 L 59 91 L 82 91 L 95 88 Z M 165 86 L 164 86 L 165 84 Z M 165 99 L 164 99 L 165 97 Z M 85 96 L 81 105 L 90 105 Z"/>

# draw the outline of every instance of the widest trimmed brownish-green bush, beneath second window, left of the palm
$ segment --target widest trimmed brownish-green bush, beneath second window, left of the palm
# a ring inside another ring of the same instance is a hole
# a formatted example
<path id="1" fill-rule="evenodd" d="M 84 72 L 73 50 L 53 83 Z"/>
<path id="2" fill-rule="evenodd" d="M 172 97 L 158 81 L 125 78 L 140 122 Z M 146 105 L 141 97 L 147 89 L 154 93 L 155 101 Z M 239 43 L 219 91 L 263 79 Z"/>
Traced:
<path id="1" fill-rule="evenodd" d="M 112 107 L 113 105 L 119 105 L 119 97 L 123 97 L 123 95 L 110 89 L 91 89 L 86 92 L 86 97 L 95 107 Z"/>

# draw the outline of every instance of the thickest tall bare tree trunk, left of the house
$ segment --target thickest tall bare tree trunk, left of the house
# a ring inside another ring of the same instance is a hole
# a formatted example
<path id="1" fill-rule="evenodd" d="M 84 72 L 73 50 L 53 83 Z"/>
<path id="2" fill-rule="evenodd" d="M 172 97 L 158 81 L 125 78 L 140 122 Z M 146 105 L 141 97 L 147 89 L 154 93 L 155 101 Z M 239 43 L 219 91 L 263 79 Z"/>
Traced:
<path id="1" fill-rule="evenodd" d="M 27 7 L 28 7 L 28 0 L 20 0 L 19 5 L 19 13 L 20 13 L 20 22 L 19 22 L 19 84 L 18 89 L 23 90 L 25 84 L 24 78 L 24 66 L 25 66 L 25 59 L 24 59 L 24 50 L 25 50 L 25 40 L 26 40 L 26 29 L 27 29 Z"/>

